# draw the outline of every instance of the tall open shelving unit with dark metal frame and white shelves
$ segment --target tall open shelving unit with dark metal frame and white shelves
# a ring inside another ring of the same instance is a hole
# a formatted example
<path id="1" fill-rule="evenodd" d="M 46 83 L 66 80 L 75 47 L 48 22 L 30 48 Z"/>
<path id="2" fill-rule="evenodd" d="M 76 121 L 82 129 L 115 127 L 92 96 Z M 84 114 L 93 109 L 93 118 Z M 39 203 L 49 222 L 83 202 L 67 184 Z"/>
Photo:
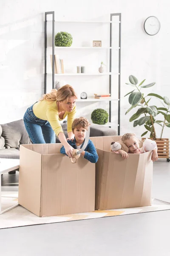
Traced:
<path id="1" fill-rule="evenodd" d="M 52 23 L 52 47 L 47 47 L 47 15 L 48 14 L 52 14 L 53 15 L 53 20 L 52 21 L 48 21 Z M 112 17 L 113 16 L 119 16 L 119 21 L 113 21 Z M 91 46 L 76 46 L 76 47 L 55 47 L 54 46 L 54 26 L 57 23 L 108 23 L 108 25 L 110 26 L 110 46 L 109 47 L 91 47 Z M 112 46 L 112 24 L 118 24 L 119 26 L 119 47 L 113 47 Z M 104 99 L 95 99 L 94 97 L 90 97 L 88 96 L 88 99 L 77 99 L 77 102 L 109 102 L 109 122 L 107 124 L 105 124 L 105 126 L 115 126 L 115 122 L 111 122 L 111 102 L 112 101 L 117 101 L 118 102 L 118 135 L 120 134 L 120 52 L 121 52 L 121 48 L 120 48 L 120 44 L 121 44 L 121 14 L 120 13 L 116 13 L 116 14 L 111 14 L 111 20 L 110 21 L 102 21 L 102 20 L 57 20 L 54 21 L 54 12 L 45 12 L 45 93 L 46 93 L 46 83 L 47 83 L 47 75 L 52 75 L 52 88 L 54 88 L 54 77 L 57 76 L 109 76 L 109 93 L 111 93 L 111 76 L 113 75 L 118 75 L 119 76 L 119 92 L 118 92 L 118 98 L 115 99 L 113 97 L 108 97 L 108 98 L 104 98 Z M 52 48 L 52 55 L 53 55 L 53 64 L 52 64 L 52 73 L 47 73 L 47 48 Z M 108 49 L 110 51 L 110 65 L 109 65 L 109 72 L 105 72 L 105 73 L 61 73 L 61 74 L 55 74 L 54 73 L 54 50 L 57 49 L 58 50 L 69 50 L 71 51 L 72 49 L 77 49 L 77 50 L 84 50 L 84 49 L 90 49 L 90 50 L 102 50 L 102 49 Z M 119 72 L 112 72 L 112 51 L 119 51 Z M 111 93 L 112 95 L 112 93 Z"/>

